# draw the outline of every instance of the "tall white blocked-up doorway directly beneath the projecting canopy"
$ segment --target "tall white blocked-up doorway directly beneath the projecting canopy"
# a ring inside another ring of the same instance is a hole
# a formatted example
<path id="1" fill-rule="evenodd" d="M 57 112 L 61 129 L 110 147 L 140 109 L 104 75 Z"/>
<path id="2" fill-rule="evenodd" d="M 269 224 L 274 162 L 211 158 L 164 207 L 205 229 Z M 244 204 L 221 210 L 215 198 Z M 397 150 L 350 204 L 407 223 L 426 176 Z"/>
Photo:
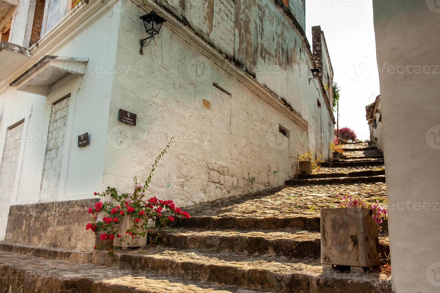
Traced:
<path id="1" fill-rule="evenodd" d="M 44 156 L 40 202 L 58 199 L 59 177 L 61 174 L 62 154 L 64 152 L 69 103 L 70 97 L 52 105 L 46 154 Z"/>

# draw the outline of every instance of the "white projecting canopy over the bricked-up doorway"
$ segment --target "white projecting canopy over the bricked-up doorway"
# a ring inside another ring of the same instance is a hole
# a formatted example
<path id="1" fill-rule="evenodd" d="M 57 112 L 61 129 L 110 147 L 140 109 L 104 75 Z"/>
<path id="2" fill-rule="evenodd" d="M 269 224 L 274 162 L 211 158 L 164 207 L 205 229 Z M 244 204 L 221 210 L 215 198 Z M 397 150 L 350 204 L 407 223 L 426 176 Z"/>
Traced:
<path id="1" fill-rule="evenodd" d="M 46 55 L 9 84 L 17 90 L 47 96 L 52 84 L 67 74 L 84 75 L 88 58 Z"/>

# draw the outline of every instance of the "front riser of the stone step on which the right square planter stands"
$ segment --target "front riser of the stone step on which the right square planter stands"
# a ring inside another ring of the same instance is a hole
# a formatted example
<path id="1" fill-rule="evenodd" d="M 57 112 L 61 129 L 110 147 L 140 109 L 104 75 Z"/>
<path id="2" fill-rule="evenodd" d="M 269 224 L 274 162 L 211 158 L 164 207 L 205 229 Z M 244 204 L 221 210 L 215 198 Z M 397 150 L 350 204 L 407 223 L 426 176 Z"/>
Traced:
<path id="1" fill-rule="evenodd" d="M 215 282 L 276 292 L 392 292 L 390 281 L 354 275 L 313 274 L 311 272 L 277 273 L 262 268 L 243 268 L 233 264 L 202 264 L 160 255 L 95 251 L 93 261 L 109 266 L 130 266 L 133 269 L 157 271 L 184 276 L 186 279 Z"/>

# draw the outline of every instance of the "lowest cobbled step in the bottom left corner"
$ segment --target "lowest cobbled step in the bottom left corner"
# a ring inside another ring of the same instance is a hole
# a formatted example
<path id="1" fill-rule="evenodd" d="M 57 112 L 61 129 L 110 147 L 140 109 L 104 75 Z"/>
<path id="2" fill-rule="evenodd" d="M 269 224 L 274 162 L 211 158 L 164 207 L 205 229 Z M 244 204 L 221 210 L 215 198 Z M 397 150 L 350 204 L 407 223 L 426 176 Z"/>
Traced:
<path id="1" fill-rule="evenodd" d="M 106 252 L 103 252 L 106 253 Z M 0 292 L 9 293 L 252 293 L 248 288 L 138 271 L 117 266 L 72 264 L 0 251 Z M 221 291 L 219 291 L 221 290 Z M 267 292 L 267 291 L 265 291 Z"/>

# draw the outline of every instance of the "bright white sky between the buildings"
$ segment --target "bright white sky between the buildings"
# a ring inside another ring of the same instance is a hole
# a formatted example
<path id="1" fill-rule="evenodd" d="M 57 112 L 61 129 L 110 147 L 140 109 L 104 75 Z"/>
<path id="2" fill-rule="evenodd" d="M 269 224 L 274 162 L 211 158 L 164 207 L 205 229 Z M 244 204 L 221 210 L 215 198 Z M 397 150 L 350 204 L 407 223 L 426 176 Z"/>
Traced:
<path id="1" fill-rule="evenodd" d="M 365 106 L 380 94 L 372 0 L 306 0 L 311 46 L 314 25 L 324 31 L 334 81 L 341 87 L 339 128 L 350 127 L 359 139 L 369 139 Z"/>

